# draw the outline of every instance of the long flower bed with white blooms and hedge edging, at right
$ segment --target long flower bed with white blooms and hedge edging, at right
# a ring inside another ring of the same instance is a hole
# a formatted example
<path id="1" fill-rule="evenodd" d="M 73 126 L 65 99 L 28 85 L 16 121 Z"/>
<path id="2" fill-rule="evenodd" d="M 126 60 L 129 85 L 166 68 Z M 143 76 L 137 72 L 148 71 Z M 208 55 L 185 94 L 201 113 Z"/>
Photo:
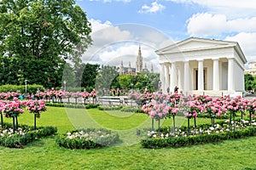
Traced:
<path id="1" fill-rule="evenodd" d="M 235 126 L 234 126 L 235 124 Z M 233 129 L 236 127 L 236 131 Z M 189 129 L 189 130 L 188 130 Z M 203 124 L 197 127 L 176 128 L 175 133 L 170 128 L 160 128 L 159 132 L 148 131 L 146 138 L 141 140 L 144 148 L 176 147 L 189 144 L 206 144 L 227 139 L 240 139 L 256 135 L 256 121 L 241 120 L 239 122 L 218 122 Z"/>

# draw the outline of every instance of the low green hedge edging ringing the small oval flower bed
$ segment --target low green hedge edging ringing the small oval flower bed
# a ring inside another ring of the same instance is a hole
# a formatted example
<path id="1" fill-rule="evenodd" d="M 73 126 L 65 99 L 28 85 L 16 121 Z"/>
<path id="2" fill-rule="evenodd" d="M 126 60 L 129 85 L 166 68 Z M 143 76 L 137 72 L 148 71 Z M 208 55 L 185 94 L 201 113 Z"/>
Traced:
<path id="1" fill-rule="evenodd" d="M 84 138 L 73 138 L 69 139 L 67 138 L 67 134 L 61 134 L 57 136 L 56 143 L 64 148 L 67 149 L 92 149 L 92 148 L 102 148 L 104 146 L 109 146 L 116 144 L 119 142 L 119 134 L 112 132 L 107 129 L 95 129 L 95 128 L 88 128 L 88 129 L 80 129 L 76 131 L 72 131 L 71 133 L 78 133 L 79 131 L 84 131 L 85 133 L 90 132 L 97 132 L 102 131 L 104 133 L 108 133 L 108 135 L 103 136 L 101 134 L 98 134 L 96 137 L 91 137 L 90 139 L 84 139 Z"/>

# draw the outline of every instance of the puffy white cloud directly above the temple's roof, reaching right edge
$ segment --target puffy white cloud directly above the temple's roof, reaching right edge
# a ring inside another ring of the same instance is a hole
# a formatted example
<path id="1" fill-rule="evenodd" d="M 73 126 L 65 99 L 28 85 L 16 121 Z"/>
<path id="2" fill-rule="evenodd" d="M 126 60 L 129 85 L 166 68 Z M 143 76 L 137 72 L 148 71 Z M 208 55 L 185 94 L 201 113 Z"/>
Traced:
<path id="1" fill-rule="evenodd" d="M 220 36 L 222 33 L 256 31 L 256 17 L 227 20 L 224 14 L 194 14 L 188 20 L 188 33 L 195 37 Z"/>

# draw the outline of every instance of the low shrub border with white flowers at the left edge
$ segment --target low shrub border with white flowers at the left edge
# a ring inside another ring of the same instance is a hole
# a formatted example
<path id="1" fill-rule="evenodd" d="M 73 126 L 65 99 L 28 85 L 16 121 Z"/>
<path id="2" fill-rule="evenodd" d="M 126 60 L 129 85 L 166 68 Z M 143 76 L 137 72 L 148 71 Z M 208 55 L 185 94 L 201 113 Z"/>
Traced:
<path id="1" fill-rule="evenodd" d="M 9 148 L 23 148 L 24 145 L 32 142 L 35 139 L 50 136 L 57 132 L 56 127 L 33 127 L 20 125 L 18 132 L 12 134 L 12 125 L 5 123 L 3 128 L 0 128 L 0 145 Z"/>

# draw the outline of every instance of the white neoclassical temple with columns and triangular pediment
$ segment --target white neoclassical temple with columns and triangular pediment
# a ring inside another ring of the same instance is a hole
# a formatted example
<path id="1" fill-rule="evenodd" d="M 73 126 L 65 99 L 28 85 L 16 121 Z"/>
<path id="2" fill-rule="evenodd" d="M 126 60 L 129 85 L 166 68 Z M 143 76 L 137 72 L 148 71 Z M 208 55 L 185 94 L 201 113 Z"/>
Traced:
<path id="1" fill-rule="evenodd" d="M 244 91 L 247 59 L 237 42 L 190 37 L 156 51 L 163 92 L 223 95 Z"/>

